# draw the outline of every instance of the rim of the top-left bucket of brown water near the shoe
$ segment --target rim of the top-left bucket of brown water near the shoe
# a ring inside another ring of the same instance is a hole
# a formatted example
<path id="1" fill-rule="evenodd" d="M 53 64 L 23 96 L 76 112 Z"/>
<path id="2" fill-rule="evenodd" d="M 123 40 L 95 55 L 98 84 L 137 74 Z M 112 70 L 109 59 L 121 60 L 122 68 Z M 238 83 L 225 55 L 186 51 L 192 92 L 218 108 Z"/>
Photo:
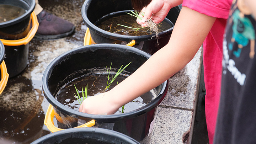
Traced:
<path id="1" fill-rule="evenodd" d="M 22 1 L 25 2 L 26 4 L 28 4 L 28 1 L 27 1 L 27 0 L 26 0 L 26 1 L 25 1 L 25 0 L 22 0 Z M 19 16 L 19 17 L 16 17 L 16 18 L 14 18 L 14 19 L 12 19 L 12 20 L 10 20 L 10 21 L 0 22 L 0 28 L 6 27 L 6 26 L 10 26 L 10 25 L 14 25 L 14 24 L 16 24 L 16 23 L 18 23 L 18 22 L 21 22 L 21 21 L 24 20 L 25 18 L 29 17 L 29 16 L 31 15 L 31 13 L 33 12 L 35 6 L 36 6 L 36 1 L 35 1 L 35 0 L 30 0 L 30 1 L 31 1 L 31 5 L 28 4 L 28 6 L 30 6 L 30 7 L 29 7 L 29 9 L 25 12 L 25 14 L 23 14 L 23 15 L 21 15 L 21 16 Z M 11 0 L 8 1 L 8 2 L 11 3 Z M 9 3 L 7 3 L 7 4 L 9 4 Z M 1 1 L 0 1 L 0 4 L 2 4 Z M 4 4 L 6 4 L 6 3 L 4 3 Z M 10 5 L 11 5 L 11 4 L 10 4 Z"/>

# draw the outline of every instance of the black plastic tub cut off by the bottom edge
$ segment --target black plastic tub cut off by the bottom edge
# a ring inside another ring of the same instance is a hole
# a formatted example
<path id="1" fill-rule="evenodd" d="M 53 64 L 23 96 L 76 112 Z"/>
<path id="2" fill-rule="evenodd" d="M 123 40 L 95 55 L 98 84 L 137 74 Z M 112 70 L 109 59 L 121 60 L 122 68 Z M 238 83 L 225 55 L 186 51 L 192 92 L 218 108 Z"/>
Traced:
<path id="1" fill-rule="evenodd" d="M 72 128 L 47 134 L 31 144 L 139 144 L 133 138 L 102 128 Z"/>

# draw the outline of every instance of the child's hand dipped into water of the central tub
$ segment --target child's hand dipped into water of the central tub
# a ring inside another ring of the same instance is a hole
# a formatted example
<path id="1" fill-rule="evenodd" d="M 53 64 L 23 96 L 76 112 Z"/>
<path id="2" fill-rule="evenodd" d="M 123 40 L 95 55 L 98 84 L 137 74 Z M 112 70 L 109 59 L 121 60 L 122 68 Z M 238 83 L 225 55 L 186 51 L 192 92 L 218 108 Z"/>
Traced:
<path id="1" fill-rule="evenodd" d="M 114 114 L 120 107 L 117 106 L 111 98 L 108 97 L 108 92 L 86 98 L 79 112 L 89 114 Z"/>

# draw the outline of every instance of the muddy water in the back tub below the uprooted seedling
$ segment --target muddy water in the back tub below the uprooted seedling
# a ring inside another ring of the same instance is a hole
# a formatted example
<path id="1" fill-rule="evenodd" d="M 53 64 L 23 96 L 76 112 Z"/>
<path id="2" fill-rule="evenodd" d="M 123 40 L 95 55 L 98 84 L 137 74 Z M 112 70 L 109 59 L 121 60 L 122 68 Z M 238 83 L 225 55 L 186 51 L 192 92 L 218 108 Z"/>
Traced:
<path id="1" fill-rule="evenodd" d="M 126 13 L 121 13 L 121 14 L 117 13 L 117 14 L 104 16 L 100 18 L 100 20 L 98 20 L 95 23 L 95 25 L 107 32 L 117 33 L 117 34 L 122 34 L 127 36 L 143 36 L 143 35 L 149 35 L 149 34 L 156 34 L 155 32 L 150 31 L 148 27 L 144 27 L 136 31 L 135 29 L 132 29 L 132 28 L 120 26 L 120 25 L 124 25 L 128 27 L 133 27 L 133 28 L 141 27 L 136 22 L 136 17 Z M 164 20 L 158 24 L 158 32 L 168 30 L 173 26 L 174 25 L 170 21 L 167 22 L 167 20 Z"/>

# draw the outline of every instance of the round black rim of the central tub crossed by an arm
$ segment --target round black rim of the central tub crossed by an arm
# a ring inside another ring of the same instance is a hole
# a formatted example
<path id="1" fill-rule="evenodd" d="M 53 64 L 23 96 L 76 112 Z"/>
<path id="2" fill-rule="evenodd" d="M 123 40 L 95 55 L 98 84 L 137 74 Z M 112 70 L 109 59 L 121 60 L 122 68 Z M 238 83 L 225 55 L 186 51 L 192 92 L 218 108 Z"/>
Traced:
<path id="1" fill-rule="evenodd" d="M 158 96 L 156 96 L 156 98 L 151 101 L 150 103 L 148 103 L 147 105 L 138 108 L 137 110 L 133 110 L 130 112 L 126 112 L 126 113 L 121 113 L 121 114 L 111 114 L 111 115 L 100 115 L 100 114 L 87 114 L 87 113 L 82 113 L 79 111 L 76 111 L 74 109 L 68 108 L 64 105 L 62 105 L 60 102 L 58 102 L 55 97 L 51 94 L 50 90 L 49 90 L 49 86 L 48 86 L 48 79 L 50 77 L 50 73 L 52 72 L 52 69 L 54 68 L 54 66 L 56 65 L 55 63 L 57 63 L 59 61 L 60 58 L 65 58 L 67 55 L 69 55 L 70 53 L 74 54 L 76 51 L 80 51 L 82 49 L 90 49 L 90 48 L 95 48 L 96 49 L 102 49 L 103 47 L 114 47 L 115 49 L 119 49 L 119 50 L 128 50 L 130 52 L 134 52 L 134 53 L 138 53 L 141 54 L 145 57 L 150 57 L 151 55 L 139 50 L 137 48 L 134 47 L 130 47 L 130 46 L 125 46 L 125 45 L 121 45 L 121 44 L 91 44 L 91 45 L 87 45 L 87 46 L 81 46 L 75 49 L 71 49 L 61 55 L 59 55 L 57 58 L 55 58 L 46 68 L 46 70 L 44 71 L 43 74 L 43 78 L 42 78 L 42 90 L 43 90 L 43 94 L 46 97 L 46 99 L 48 100 L 48 102 L 54 107 L 57 108 L 57 110 L 68 114 L 69 116 L 73 116 L 75 118 L 79 118 L 79 117 L 84 117 L 84 118 L 92 118 L 97 120 L 105 120 L 105 121 L 115 121 L 117 119 L 125 119 L 125 118 L 132 118 L 132 117 L 137 117 L 140 116 L 148 111 L 150 111 L 151 109 L 153 109 L 154 107 L 157 107 L 160 102 L 164 99 L 167 90 L 168 90 L 168 80 L 164 81 L 161 85 L 162 88 L 158 94 Z"/>

